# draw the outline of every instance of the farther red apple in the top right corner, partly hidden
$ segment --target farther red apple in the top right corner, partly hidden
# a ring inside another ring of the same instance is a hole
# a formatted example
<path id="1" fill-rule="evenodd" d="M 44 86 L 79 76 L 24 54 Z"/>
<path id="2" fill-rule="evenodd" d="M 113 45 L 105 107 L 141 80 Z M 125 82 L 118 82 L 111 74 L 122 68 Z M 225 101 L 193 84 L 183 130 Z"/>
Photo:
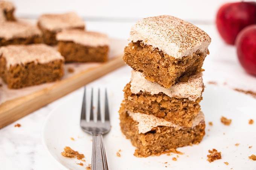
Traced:
<path id="1" fill-rule="evenodd" d="M 235 44 L 238 33 L 246 26 L 256 24 L 256 3 L 227 3 L 219 9 L 216 26 L 227 44 Z"/>

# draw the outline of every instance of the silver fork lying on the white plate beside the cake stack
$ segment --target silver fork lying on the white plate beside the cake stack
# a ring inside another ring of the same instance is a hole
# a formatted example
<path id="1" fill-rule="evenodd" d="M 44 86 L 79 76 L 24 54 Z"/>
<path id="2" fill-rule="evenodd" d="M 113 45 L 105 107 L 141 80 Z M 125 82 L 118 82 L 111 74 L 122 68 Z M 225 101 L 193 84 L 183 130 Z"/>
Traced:
<path id="1" fill-rule="evenodd" d="M 107 156 L 102 135 L 110 131 L 107 89 L 105 90 L 105 121 L 101 121 L 100 89 L 98 89 L 97 122 L 93 115 L 93 89 L 91 89 L 90 121 L 86 121 L 86 88 L 82 102 L 80 126 L 84 132 L 93 135 L 93 147 L 91 156 L 92 170 L 108 170 Z"/>

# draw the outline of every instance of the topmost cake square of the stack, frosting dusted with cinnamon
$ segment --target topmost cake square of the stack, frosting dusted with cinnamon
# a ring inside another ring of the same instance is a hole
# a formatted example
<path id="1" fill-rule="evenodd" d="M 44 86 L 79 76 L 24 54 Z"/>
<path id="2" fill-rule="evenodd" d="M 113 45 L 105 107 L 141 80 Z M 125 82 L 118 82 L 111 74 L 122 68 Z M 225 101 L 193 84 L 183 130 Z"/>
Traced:
<path id="1" fill-rule="evenodd" d="M 211 42 L 203 30 L 168 15 L 138 21 L 129 40 L 123 60 L 165 88 L 201 72 Z"/>

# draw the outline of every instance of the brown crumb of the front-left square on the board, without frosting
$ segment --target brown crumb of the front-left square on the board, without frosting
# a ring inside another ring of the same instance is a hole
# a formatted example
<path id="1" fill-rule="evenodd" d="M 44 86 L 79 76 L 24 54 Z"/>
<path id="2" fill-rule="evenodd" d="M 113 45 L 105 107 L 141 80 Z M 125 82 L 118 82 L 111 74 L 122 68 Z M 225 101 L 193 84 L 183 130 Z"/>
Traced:
<path id="1" fill-rule="evenodd" d="M 64 61 L 54 60 L 49 63 L 26 63 L 6 68 L 4 56 L 0 56 L 0 76 L 11 89 L 37 85 L 59 80 L 64 75 Z"/>

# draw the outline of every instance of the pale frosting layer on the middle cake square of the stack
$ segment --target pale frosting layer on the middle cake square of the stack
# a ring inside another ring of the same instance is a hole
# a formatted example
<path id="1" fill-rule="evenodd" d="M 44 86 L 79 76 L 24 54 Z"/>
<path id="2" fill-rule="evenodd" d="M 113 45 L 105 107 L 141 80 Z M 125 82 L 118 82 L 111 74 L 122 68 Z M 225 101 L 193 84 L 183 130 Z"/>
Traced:
<path id="1" fill-rule="evenodd" d="M 204 86 L 201 73 L 192 75 L 187 82 L 178 82 L 170 88 L 165 88 L 158 83 L 146 80 L 145 75 L 136 70 L 131 72 L 130 84 L 131 92 L 134 94 L 140 91 L 148 92 L 151 95 L 164 93 L 169 97 L 188 98 L 191 101 L 195 101 L 201 96 Z"/>

